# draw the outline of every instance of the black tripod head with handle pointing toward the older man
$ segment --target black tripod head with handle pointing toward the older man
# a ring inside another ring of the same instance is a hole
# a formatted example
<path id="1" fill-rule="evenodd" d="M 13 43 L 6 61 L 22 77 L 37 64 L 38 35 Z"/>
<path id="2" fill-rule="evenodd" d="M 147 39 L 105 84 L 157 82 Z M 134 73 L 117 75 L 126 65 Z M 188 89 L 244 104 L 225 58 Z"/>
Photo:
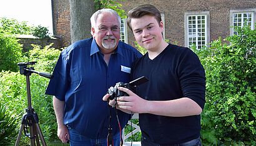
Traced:
<path id="1" fill-rule="evenodd" d="M 53 76 L 49 73 L 43 73 L 43 72 L 38 72 L 34 70 L 34 67 L 27 67 L 28 65 L 35 65 L 36 62 L 20 62 L 17 63 L 17 65 L 19 66 L 19 71 L 21 73 L 21 75 L 25 75 L 25 76 L 29 76 L 31 75 L 31 73 L 37 73 L 38 75 L 44 76 L 46 78 L 51 79 Z"/>

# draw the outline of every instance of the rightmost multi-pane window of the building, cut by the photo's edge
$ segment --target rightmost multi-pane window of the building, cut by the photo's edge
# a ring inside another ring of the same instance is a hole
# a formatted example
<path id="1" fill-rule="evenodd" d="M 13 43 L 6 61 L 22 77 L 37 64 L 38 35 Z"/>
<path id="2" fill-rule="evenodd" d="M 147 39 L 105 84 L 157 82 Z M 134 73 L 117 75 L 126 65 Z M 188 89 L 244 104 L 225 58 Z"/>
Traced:
<path id="1" fill-rule="evenodd" d="M 237 35 L 234 27 L 244 27 L 248 25 L 254 29 L 254 14 L 256 9 L 230 10 L 230 35 Z"/>

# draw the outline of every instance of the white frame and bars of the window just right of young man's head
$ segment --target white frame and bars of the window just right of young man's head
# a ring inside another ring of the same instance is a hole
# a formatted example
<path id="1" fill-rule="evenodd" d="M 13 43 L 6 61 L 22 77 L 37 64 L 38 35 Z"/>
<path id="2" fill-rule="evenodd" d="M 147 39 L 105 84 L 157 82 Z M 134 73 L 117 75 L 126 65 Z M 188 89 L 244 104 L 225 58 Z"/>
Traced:
<path id="1" fill-rule="evenodd" d="M 199 44 L 199 42 L 202 42 L 202 40 L 199 40 L 200 36 L 199 34 L 202 34 L 204 33 L 204 42 L 205 42 L 205 46 L 207 46 L 207 44 L 209 43 L 209 40 L 210 40 L 210 12 L 209 11 L 200 11 L 200 12 L 185 12 L 185 15 L 184 15 L 184 28 L 185 28 L 185 33 L 184 33 L 184 46 L 185 47 L 190 47 L 189 46 L 189 38 L 190 38 L 190 35 L 189 35 L 189 17 L 193 17 L 195 16 L 195 45 L 197 46 L 197 49 L 199 49 L 199 45 L 202 45 L 202 44 Z M 198 21 L 197 18 L 199 16 L 204 16 L 205 17 L 205 25 L 204 25 L 204 32 L 200 31 L 199 32 L 199 27 L 198 27 Z"/>

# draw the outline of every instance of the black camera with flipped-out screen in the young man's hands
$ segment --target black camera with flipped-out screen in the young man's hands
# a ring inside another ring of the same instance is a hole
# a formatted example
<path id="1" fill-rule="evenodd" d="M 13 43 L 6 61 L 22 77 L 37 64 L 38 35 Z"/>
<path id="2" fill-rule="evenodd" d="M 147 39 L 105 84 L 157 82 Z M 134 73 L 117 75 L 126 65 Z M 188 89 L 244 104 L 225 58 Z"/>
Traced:
<path id="1" fill-rule="evenodd" d="M 124 91 L 120 91 L 118 88 L 119 87 L 124 87 L 130 90 L 133 90 L 136 86 L 145 83 L 149 81 L 147 78 L 145 78 L 145 76 L 141 76 L 140 78 L 137 78 L 136 80 L 130 81 L 129 83 L 123 83 L 123 82 L 119 82 L 116 83 L 116 85 L 114 87 L 110 87 L 107 90 L 107 93 L 110 95 L 109 99 L 113 100 L 113 99 L 117 99 L 121 96 L 129 96 L 129 94 L 127 94 Z"/>

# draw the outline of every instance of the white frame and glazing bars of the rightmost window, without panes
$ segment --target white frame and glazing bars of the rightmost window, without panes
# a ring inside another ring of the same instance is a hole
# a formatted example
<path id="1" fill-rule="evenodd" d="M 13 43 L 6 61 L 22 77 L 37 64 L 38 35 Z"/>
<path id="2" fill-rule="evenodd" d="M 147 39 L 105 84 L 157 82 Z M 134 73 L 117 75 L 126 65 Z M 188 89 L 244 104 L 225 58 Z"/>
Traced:
<path id="1" fill-rule="evenodd" d="M 250 21 L 250 24 L 251 24 L 251 29 L 253 30 L 255 28 L 255 22 L 256 22 L 256 8 L 252 8 L 252 9 L 230 9 L 230 17 L 229 17 L 229 21 L 230 21 L 230 35 L 234 35 L 234 14 L 242 14 L 242 17 L 241 17 L 241 27 L 244 27 L 244 20 L 245 20 L 245 17 L 244 17 L 244 14 L 252 14 L 252 17 L 251 17 L 251 21 Z M 247 22 L 248 24 L 248 22 Z"/>

